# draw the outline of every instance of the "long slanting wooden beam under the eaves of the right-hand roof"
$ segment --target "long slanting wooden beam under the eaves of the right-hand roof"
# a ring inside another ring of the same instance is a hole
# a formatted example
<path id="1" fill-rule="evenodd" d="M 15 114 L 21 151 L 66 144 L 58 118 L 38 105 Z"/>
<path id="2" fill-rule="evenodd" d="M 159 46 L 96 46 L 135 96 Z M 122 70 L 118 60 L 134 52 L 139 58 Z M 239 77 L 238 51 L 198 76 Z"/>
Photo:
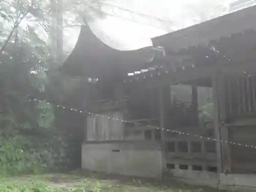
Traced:
<path id="1" fill-rule="evenodd" d="M 188 67 L 180 69 L 178 71 L 169 71 L 168 73 L 166 73 L 165 70 L 146 72 L 129 77 L 129 79 L 126 79 L 125 82 L 127 82 L 127 84 L 137 84 L 138 82 L 142 82 L 142 84 L 158 87 L 162 84 L 186 84 L 189 81 L 210 78 L 218 70 L 226 74 L 235 75 L 245 72 L 246 75 L 250 75 L 252 73 L 256 73 L 255 60 L 256 58 L 254 54 L 254 57 L 251 56 L 247 60 L 238 60 L 236 62 L 222 62 L 214 66 L 203 65 L 200 67 Z M 243 63 L 243 65 L 241 63 Z"/>

